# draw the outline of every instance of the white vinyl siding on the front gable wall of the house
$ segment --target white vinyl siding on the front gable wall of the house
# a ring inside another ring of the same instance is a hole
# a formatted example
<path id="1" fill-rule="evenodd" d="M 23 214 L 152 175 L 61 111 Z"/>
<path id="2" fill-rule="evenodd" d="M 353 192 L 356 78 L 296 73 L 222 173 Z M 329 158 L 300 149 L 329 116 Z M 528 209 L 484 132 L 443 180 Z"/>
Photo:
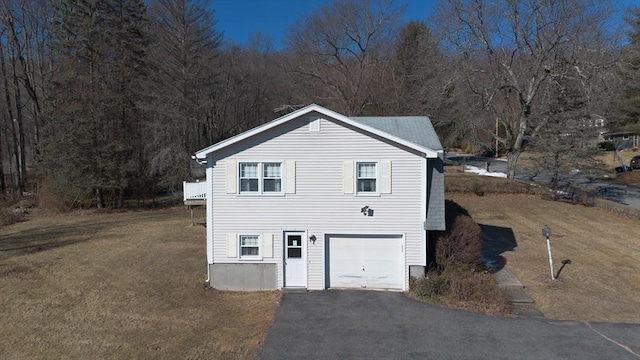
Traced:
<path id="1" fill-rule="evenodd" d="M 263 252 L 262 262 L 277 264 L 278 284 L 282 286 L 283 234 L 306 231 L 307 286 L 323 289 L 324 234 L 402 233 L 406 244 L 404 278 L 408 279 L 409 265 L 424 265 L 420 184 L 426 169 L 422 158 L 329 119 L 321 119 L 321 129 L 311 133 L 305 116 L 211 154 L 213 224 L 207 231 L 213 239 L 213 262 L 240 261 L 225 256 L 228 233 L 273 234 L 274 256 L 266 257 Z M 285 196 L 227 193 L 225 166 L 215 164 L 224 164 L 228 158 L 237 163 L 281 159 Z M 378 163 L 381 196 L 355 196 L 355 163 L 360 160 Z M 295 176 L 293 186 L 288 184 L 290 173 Z M 364 206 L 373 210 L 373 216 L 362 216 Z M 312 235 L 315 242 L 309 242 Z"/>

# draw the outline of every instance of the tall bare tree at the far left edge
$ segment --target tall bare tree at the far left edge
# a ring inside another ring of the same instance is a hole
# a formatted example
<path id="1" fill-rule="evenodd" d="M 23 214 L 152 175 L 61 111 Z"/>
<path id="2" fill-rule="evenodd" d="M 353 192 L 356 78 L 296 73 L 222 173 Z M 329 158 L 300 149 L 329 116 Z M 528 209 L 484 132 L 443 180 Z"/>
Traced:
<path id="1" fill-rule="evenodd" d="M 15 183 L 25 190 L 27 167 L 38 156 L 50 58 L 48 43 L 56 1 L 1 0 L 0 49 L 3 56 L 5 134 L 11 144 Z M 10 97 L 10 98 L 8 98 Z"/>

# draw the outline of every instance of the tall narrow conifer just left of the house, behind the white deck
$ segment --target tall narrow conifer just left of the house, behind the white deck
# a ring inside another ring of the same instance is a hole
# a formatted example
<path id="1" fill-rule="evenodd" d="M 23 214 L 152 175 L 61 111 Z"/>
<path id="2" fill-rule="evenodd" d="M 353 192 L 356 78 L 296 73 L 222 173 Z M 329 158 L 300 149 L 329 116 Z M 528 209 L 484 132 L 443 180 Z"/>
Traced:
<path id="1" fill-rule="evenodd" d="M 150 171 L 175 189 L 191 177 L 191 155 L 210 145 L 200 136 L 213 101 L 221 34 L 213 12 L 200 0 L 157 0 L 151 7 L 147 111 L 151 116 Z"/>

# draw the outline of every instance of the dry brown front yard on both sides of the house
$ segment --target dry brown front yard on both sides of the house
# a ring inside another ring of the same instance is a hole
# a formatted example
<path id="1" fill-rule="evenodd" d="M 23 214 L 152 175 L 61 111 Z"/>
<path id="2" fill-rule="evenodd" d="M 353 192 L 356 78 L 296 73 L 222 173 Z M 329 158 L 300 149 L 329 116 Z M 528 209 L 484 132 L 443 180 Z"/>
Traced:
<path id="1" fill-rule="evenodd" d="M 447 197 L 513 231 L 517 247 L 502 255 L 547 318 L 640 323 L 637 220 L 539 195 Z M 557 281 L 545 224 L 555 270 L 571 260 Z M 252 358 L 280 292 L 205 290 L 205 279 L 205 229 L 186 208 L 29 216 L 0 229 L 0 354 Z"/>

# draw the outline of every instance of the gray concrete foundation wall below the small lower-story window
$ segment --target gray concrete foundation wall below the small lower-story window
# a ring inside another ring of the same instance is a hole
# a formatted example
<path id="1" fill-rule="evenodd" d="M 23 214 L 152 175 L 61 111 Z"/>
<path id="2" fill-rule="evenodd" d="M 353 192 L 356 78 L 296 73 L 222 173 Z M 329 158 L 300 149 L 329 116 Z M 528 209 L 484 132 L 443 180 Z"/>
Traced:
<path id="1" fill-rule="evenodd" d="M 218 290 L 276 290 L 276 264 L 210 264 L 211 287 Z"/>

